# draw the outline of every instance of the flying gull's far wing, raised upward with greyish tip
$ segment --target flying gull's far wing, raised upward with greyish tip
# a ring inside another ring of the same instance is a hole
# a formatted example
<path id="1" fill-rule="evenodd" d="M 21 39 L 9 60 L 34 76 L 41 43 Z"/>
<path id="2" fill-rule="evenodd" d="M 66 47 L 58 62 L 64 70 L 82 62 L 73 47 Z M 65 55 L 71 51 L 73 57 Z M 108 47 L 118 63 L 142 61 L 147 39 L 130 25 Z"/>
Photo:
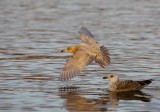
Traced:
<path id="1" fill-rule="evenodd" d="M 94 39 L 92 33 L 82 26 L 82 28 L 78 31 L 80 34 L 80 39 L 83 43 L 86 44 L 97 44 L 97 41 Z"/>

